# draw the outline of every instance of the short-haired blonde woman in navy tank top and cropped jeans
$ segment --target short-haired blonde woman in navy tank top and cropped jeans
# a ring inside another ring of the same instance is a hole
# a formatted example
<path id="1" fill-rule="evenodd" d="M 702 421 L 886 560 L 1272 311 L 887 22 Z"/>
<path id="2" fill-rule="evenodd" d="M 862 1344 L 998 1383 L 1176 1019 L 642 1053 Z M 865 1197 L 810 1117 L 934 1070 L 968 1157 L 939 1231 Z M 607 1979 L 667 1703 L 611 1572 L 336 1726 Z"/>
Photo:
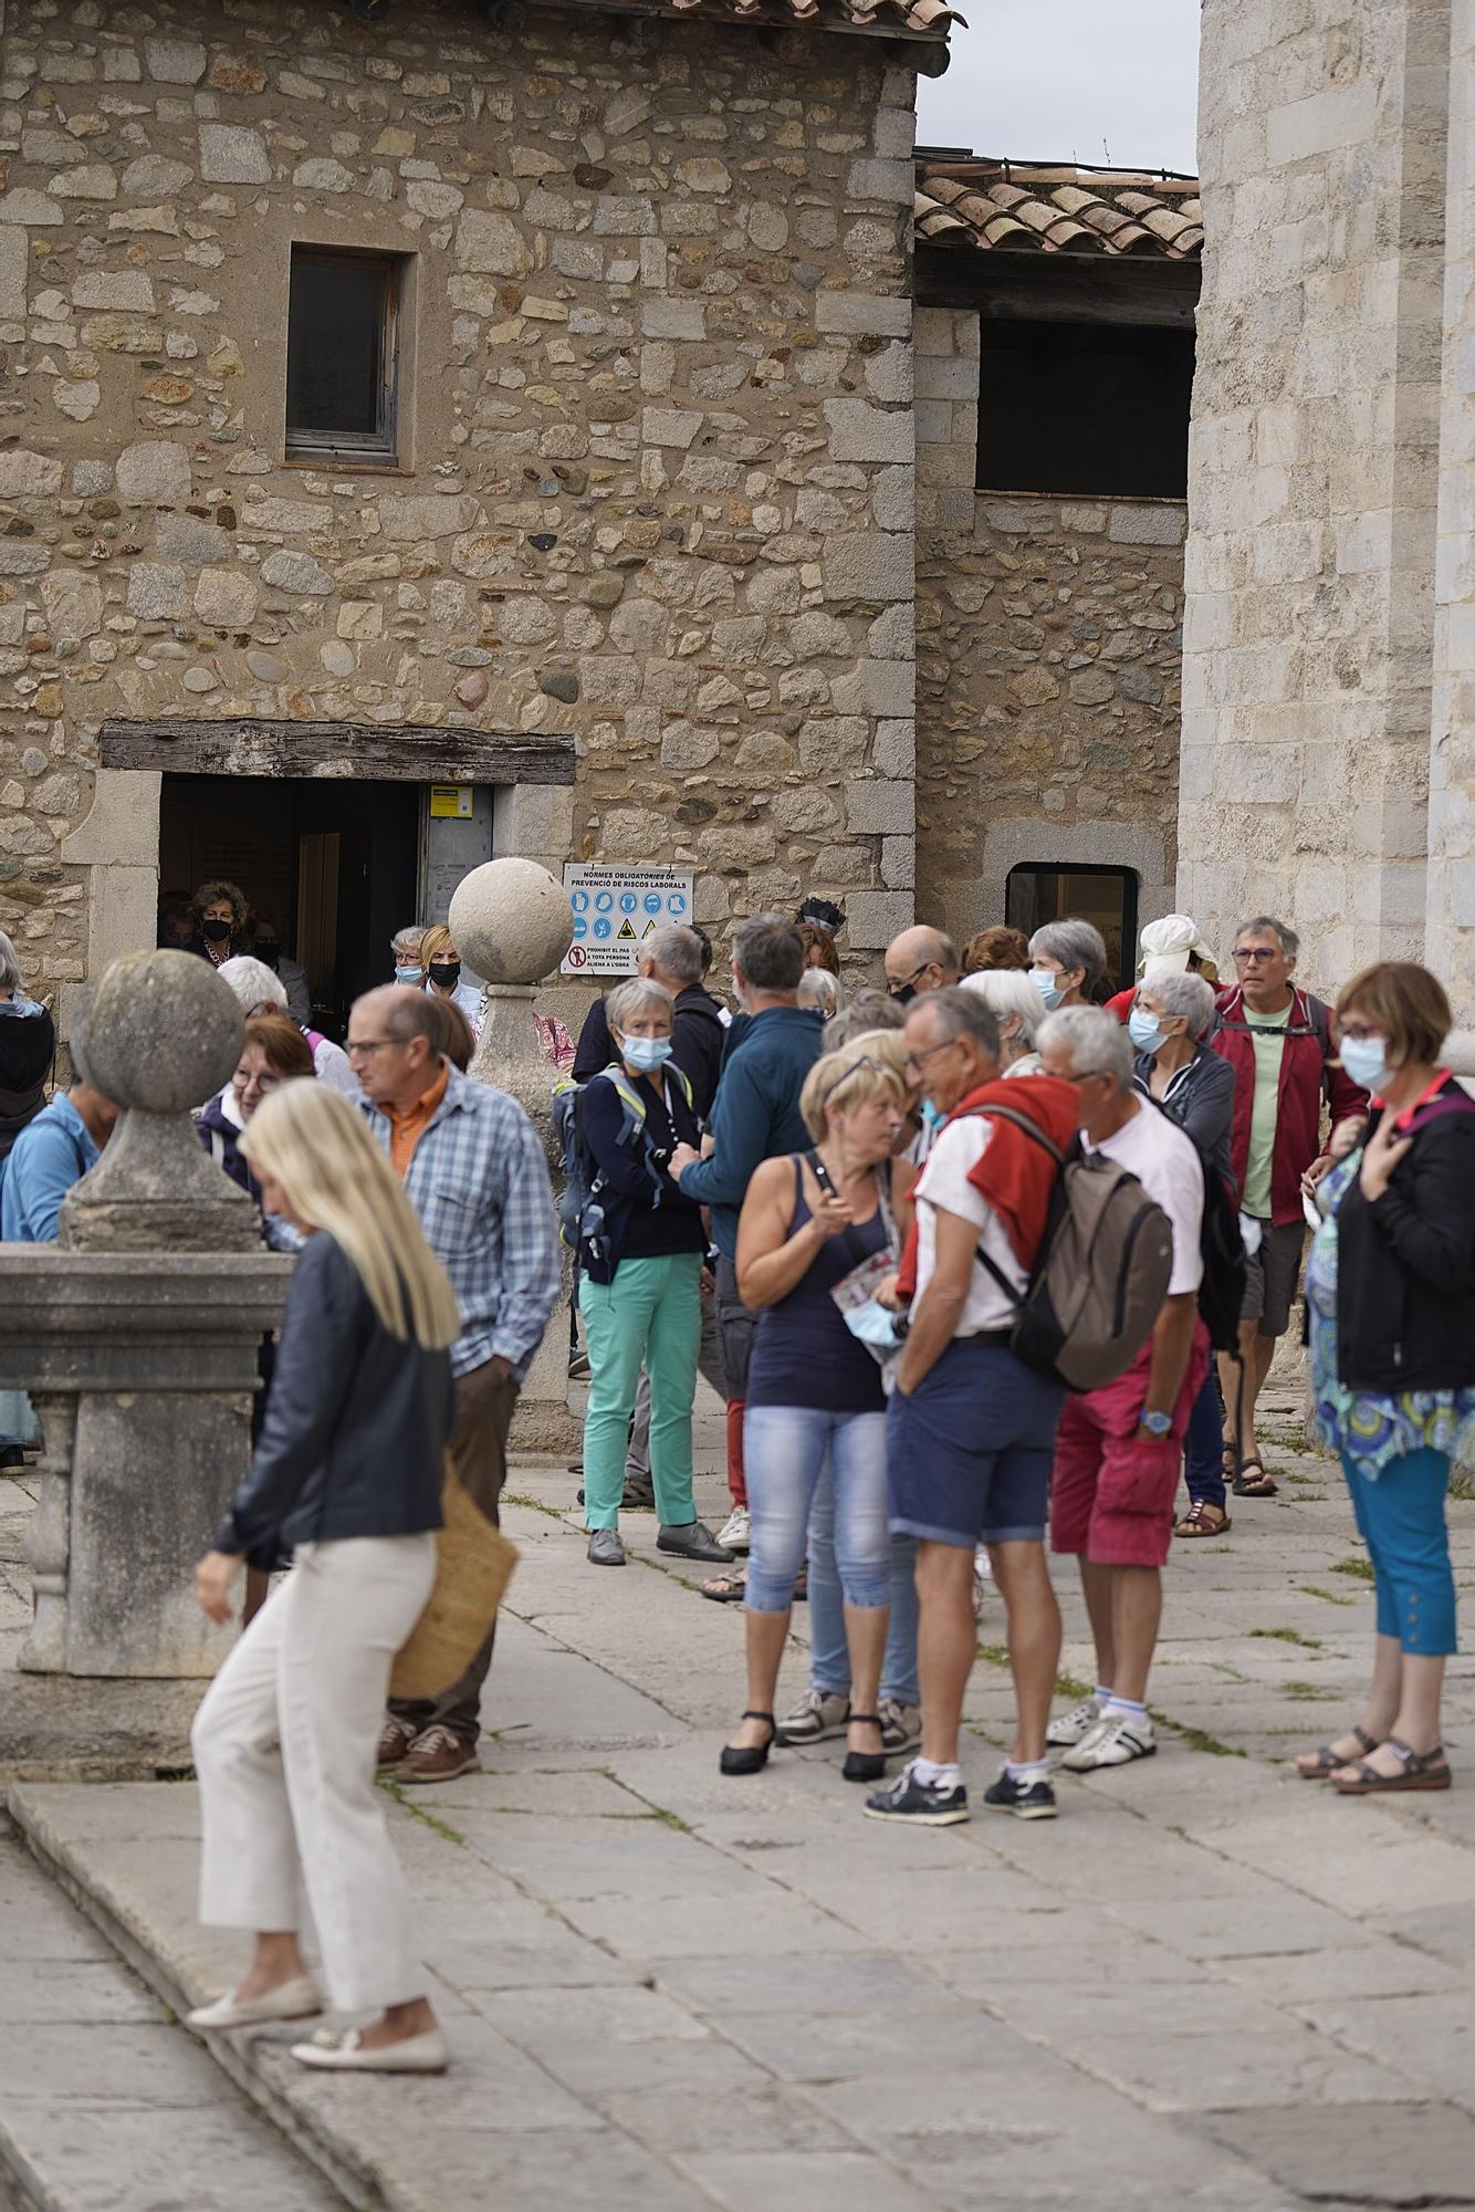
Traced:
<path id="1" fill-rule="evenodd" d="M 756 1774 L 778 1736 L 774 1686 L 805 1564 L 809 1509 L 834 1484 L 834 1555 L 845 1593 L 854 1708 L 847 1781 L 885 1772 L 878 1712 L 891 1606 L 887 1528 L 887 1400 L 880 1363 L 847 1325 L 876 1307 L 869 1283 L 896 1259 L 891 1150 L 907 1115 L 898 1037 L 856 1037 L 809 1068 L 798 1110 L 814 1150 L 765 1159 L 736 1241 L 743 1305 L 759 1310 L 743 1464 L 747 1555 L 747 1710 L 723 1747 L 723 1774 Z M 869 1283 L 869 1294 L 867 1285 Z"/>

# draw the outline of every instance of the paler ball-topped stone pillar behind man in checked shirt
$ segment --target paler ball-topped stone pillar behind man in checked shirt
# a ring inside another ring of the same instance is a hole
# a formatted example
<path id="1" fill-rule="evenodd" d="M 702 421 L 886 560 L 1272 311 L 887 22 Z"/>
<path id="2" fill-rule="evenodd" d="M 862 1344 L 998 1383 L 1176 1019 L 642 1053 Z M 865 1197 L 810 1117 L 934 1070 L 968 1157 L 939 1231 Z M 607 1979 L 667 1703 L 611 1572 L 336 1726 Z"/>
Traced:
<path id="1" fill-rule="evenodd" d="M 478 975 L 487 978 L 482 1035 L 471 1075 L 506 1091 L 524 1108 L 548 1159 L 553 1194 L 562 1190 L 564 1155 L 553 1141 L 555 1075 L 533 1022 L 535 984 L 551 975 L 573 942 L 568 894 L 535 860 L 489 860 L 462 876 L 451 898 L 451 936 Z M 582 1425 L 568 1411 L 568 1296 L 573 1254 L 564 1250 L 564 1292 L 522 1383 L 513 1444 L 520 1451 L 571 1451 Z"/>

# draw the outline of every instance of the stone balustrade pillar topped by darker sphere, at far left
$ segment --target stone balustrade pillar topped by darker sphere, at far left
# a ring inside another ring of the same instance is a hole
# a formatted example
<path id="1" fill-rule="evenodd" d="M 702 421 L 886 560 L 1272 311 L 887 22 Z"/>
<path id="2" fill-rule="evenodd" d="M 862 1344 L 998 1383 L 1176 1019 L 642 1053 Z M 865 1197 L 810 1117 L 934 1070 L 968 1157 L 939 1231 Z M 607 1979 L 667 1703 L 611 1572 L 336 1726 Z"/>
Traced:
<path id="1" fill-rule="evenodd" d="M 230 1648 L 192 1571 L 250 1460 L 257 1352 L 292 1272 L 188 1117 L 239 1048 L 203 960 L 115 960 L 73 1033 L 86 1082 L 124 1108 L 113 1141 L 55 1245 L 0 1245 L 0 1387 L 33 1394 L 44 1433 L 33 1672 L 197 1677 Z"/>

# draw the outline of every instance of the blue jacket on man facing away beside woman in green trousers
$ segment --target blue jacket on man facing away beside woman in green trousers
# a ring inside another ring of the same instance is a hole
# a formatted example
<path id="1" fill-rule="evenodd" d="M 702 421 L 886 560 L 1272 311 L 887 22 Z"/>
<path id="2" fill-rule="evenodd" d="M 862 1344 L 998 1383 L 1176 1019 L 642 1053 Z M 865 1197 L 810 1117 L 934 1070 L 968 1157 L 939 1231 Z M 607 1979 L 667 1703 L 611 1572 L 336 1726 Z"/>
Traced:
<path id="1" fill-rule="evenodd" d="M 712 1157 L 681 1177 L 686 1197 L 712 1208 L 723 1259 L 736 1259 L 739 1214 L 759 1161 L 809 1150 L 798 1093 L 823 1048 L 825 1018 L 812 1006 L 765 1006 L 723 1068 L 708 1121 Z"/>

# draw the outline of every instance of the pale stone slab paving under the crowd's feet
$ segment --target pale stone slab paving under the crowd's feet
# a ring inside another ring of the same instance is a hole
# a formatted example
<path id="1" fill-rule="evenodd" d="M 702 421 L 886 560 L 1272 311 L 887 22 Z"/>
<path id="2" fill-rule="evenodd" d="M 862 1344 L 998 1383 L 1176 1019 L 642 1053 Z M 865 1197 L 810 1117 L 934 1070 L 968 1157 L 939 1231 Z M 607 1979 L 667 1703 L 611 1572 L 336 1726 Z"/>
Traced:
<path id="1" fill-rule="evenodd" d="M 484 1772 L 394 1807 L 456 2070 L 301 2081 L 265 2046 L 257 2095 L 358 2201 L 414 2212 L 1475 2203 L 1475 1670 L 1453 1668 L 1448 1796 L 1351 1803 L 1294 1778 L 1289 1754 L 1356 1712 L 1371 1590 L 1340 1473 L 1289 1398 L 1269 1436 L 1280 1495 L 1174 1553 L 1161 1754 L 1061 1776 L 1053 1825 L 975 1805 L 924 1836 L 860 1816 L 843 1745 L 721 1778 L 739 1608 L 657 1557 L 650 1515 L 626 1517 L 624 1573 L 586 1566 L 577 1478 L 515 1469 Z M 712 1418 L 703 1442 L 716 1517 Z M 1453 1524 L 1468 1590 L 1475 1506 Z M 1064 1577 L 1061 1597 L 1064 1666 L 1088 1681 Z M 803 1632 L 801 1608 L 781 1694 L 803 1686 Z M 997 1606 L 980 1632 L 975 1796 L 1011 1721 Z M 155 1986 L 223 1986 L 239 1942 L 192 1922 L 190 1785 L 18 1785 L 11 1814 Z M 27 1913 L 0 1887 L 7 1960 Z M 0 2128 L 33 2139 L 102 2031 L 84 1984 L 69 2002 L 29 1955 L 0 2006 Z M 148 2108 L 137 2039 L 166 2031 L 108 2033 L 115 2095 Z M 268 2201 L 237 2163 L 239 2197 L 168 2201 Z M 55 2201 L 164 2201 L 128 2194 L 117 2161 L 111 2185 Z"/>

